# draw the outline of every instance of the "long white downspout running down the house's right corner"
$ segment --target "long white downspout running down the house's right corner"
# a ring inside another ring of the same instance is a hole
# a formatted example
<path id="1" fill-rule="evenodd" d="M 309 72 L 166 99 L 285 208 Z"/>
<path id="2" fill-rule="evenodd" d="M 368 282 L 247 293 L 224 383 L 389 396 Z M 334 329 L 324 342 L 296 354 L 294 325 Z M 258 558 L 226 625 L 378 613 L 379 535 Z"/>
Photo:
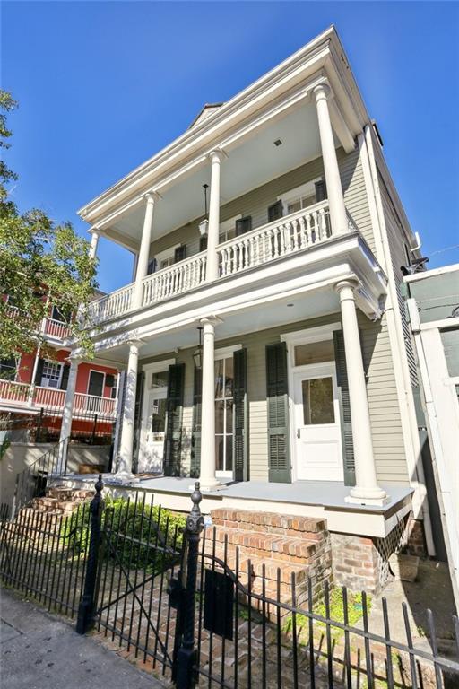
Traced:
<path id="1" fill-rule="evenodd" d="M 383 267 L 387 275 L 392 274 L 392 279 L 389 278 L 388 281 L 388 300 L 386 307 L 386 318 L 392 321 L 394 334 L 397 342 L 398 352 L 403 354 L 400 360 L 393 355 L 394 360 L 394 371 L 395 379 L 403 381 L 403 401 L 404 406 L 407 411 L 408 419 L 408 433 L 404 432 L 403 436 L 406 438 L 409 435 L 409 447 L 405 445 L 406 459 L 408 464 L 408 469 L 410 472 L 410 484 L 415 489 L 413 495 L 413 512 L 416 518 L 422 517 L 424 521 L 424 530 L 426 535 L 426 545 L 430 556 L 435 555 L 435 545 L 432 535 L 432 524 L 429 514 L 429 504 L 427 501 L 427 491 L 425 485 L 424 469 L 422 467 L 420 458 L 420 437 L 418 432 L 418 423 L 416 420 L 416 413 L 414 409 L 414 403 L 411 394 L 411 379 L 408 371 L 408 367 L 403 365 L 403 357 L 406 359 L 406 349 L 405 342 L 403 339 L 402 324 L 397 322 L 397 313 L 395 304 L 398 303 L 397 293 L 395 291 L 394 285 L 394 273 L 392 269 L 392 259 L 390 256 L 390 248 L 388 245 L 387 235 L 385 231 L 385 219 L 384 219 L 384 209 L 381 202 L 381 196 L 379 194 L 379 184 L 377 180 L 377 169 L 375 156 L 373 151 L 373 142 L 371 140 L 371 130 L 370 126 L 365 126 L 364 135 L 359 136 L 359 146 L 360 152 L 365 161 L 362 160 L 362 164 L 366 164 L 369 168 L 368 172 L 368 183 L 371 186 L 371 205 L 374 206 L 374 221 L 377 226 L 378 237 L 377 244 L 381 251 L 383 257 Z M 371 206 L 370 206 L 371 209 Z M 403 417 L 403 410 L 402 417 Z M 403 423 L 403 418 L 402 418 Z M 408 450 L 408 451 L 407 451 Z"/>

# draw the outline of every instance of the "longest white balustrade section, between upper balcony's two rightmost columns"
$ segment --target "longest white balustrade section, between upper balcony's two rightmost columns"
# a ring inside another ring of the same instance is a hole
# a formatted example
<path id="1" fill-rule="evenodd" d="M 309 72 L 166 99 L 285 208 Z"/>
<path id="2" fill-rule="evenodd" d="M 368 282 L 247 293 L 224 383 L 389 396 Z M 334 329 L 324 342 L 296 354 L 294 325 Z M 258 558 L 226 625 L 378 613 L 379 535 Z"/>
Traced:
<path id="1" fill-rule="evenodd" d="M 218 247 L 221 277 L 260 266 L 331 237 L 328 202 L 270 222 Z"/>

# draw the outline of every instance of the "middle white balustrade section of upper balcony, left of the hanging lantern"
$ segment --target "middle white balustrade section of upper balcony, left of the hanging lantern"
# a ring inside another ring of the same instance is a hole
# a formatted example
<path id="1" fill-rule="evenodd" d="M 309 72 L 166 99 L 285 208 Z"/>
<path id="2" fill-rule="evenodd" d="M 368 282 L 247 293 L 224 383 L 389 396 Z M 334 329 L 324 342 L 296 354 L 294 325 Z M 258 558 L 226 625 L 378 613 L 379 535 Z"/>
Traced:
<path id="1" fill-rule="evenodd" d="M 151 306 L 176 294 L 183 294 L 205 282 L 205 252 L 163 268 L 143 279 L 142 306 Z"/>

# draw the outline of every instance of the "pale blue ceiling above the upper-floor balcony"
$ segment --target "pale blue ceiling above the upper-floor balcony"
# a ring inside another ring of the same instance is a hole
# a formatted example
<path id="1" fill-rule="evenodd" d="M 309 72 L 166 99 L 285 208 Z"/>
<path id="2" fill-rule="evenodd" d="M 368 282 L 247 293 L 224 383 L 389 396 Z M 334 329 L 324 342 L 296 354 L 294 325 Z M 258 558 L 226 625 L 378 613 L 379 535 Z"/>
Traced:
<path id="1" fill-rule="evenodd" d="M 275 146 L 278 139 L 281 145 Z M 316 109 L 311 103 L 302 103 L 224 150 L 229 157 L 221 166 L 221 205 L 321 155 Z M 173 186 L 158 187 L 162 198 L 155 206 L 155 238 L 204 215 L 203 185 L 210 181 L 210 163 L 203 163 Z M 113 231 L 115 240 L 121 236 L 134 247 L 140 242 L 143 214 L 143 204 L 136 205 L 104 233 L 110 237 Z"/>

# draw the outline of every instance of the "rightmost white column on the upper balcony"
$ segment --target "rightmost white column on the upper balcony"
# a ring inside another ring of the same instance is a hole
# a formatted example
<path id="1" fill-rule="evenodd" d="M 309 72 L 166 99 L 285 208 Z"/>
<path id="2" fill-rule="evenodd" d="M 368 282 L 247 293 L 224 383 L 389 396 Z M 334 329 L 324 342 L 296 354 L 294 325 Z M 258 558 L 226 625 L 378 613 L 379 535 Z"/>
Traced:
<path id="1" fill-rule="evenodd" d="M 346 208 L 344 206 L 344 196 L 342 196 L 340 169 L 338 167 L 338 159 L 336 158 L 336 150 L 334 148 L 332 122 L 330 120 L 330 112 L 327 103 L 330 94 L 330 88 L 325 83 L 321 83 L 313 90 L 313 95 L 316 99 L 320 145 L 322 148 L 322 159 L 324 161 L 332 233 L 342 234 L 348 231 L 348 221 Z"/>

